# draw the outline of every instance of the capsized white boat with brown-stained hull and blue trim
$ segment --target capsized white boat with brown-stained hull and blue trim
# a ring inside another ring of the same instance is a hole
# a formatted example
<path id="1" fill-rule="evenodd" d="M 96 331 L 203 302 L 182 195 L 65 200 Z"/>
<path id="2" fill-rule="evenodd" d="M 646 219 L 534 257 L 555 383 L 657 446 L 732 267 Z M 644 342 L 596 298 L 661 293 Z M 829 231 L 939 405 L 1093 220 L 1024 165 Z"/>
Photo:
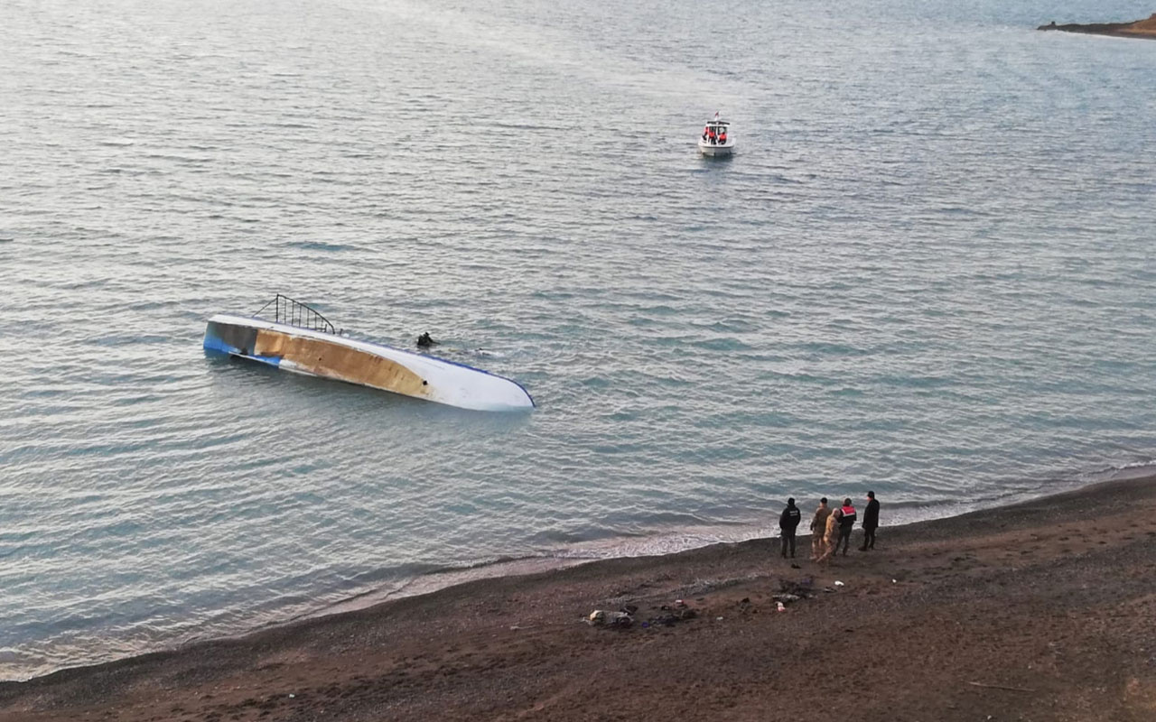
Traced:
<path id="1" fill-rule="evenodd" d="M 269 306 L 273 311 L 260 318 Z M 218 313 L 205 327 L 205 350 L 306 375 L 336 379 L 462 409 L 534 408 L 520 384 L 455 362 L 358 341 L 301 302 L 282 295 L 251 317 Z"/>

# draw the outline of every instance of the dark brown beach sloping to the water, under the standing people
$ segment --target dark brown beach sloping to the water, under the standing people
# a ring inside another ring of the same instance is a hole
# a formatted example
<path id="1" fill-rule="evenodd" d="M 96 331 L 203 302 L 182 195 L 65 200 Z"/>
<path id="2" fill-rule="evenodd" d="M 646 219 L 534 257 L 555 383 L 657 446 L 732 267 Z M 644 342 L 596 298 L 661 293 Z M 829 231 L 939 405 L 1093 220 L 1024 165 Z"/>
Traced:
<path id="1" fill-rule="evenodd" d="M 1150 722 L 1154 508 L 1149 477 L 883 527 L 828 567 L 802 537 L 799 570 L 755 539 L 479 580 L 3 683 L 0 721 Z M 680 598 L 695 618 L 642 626 Z M 627 604 L 629 627 L 583 621 Z"/>

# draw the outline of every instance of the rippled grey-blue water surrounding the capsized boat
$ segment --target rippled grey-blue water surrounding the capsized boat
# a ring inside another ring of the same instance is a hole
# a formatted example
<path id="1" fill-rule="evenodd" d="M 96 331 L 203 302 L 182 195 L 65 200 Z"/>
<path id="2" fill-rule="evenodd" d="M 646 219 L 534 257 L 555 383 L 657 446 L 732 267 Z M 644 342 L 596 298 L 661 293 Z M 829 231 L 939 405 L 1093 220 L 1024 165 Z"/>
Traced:
<path id="1" fill-rule="evenodd" d="M 1150 2 L 492 6 L 3 3 L 0 677 L 1156 456 L 1156 43 L 1032 30 Z M 277 291 L 540 408 L 203 356 Z"/>

